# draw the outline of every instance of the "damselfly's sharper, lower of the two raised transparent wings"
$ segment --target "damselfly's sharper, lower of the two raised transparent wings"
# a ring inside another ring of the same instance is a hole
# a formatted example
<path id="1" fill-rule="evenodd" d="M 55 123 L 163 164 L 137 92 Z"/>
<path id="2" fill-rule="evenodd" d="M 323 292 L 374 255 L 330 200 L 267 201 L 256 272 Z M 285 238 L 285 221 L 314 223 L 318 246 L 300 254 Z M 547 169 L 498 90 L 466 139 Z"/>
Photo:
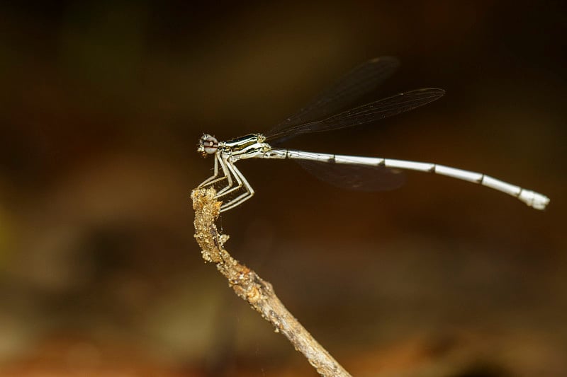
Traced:
<path id="1" fill-rule="evenodd" d="M 427 105 L 444 94 L 445 91 L 438 88 L 417 89 L 367 103 L 323 120 L 296 124 L 285 129 L 273 129 L 264 136 L 267 140 L 276 140 L 310 132 L 330 131 L 370 123 Z"/>

